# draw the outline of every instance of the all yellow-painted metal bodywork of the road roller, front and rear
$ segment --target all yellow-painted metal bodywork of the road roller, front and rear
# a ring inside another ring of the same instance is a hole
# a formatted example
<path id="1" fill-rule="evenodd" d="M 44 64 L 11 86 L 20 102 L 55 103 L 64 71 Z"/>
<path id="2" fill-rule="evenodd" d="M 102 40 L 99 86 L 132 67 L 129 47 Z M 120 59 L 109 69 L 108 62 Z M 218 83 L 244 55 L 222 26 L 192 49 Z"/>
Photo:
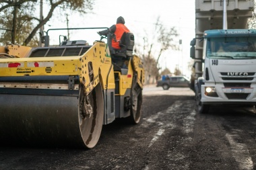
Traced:
<path id="1" fill-rule="evenodd" d="M 26 56 L 32 48 L 26 46 L 7 46 L 9 55 L 20 58 L 1 58 L 0 75 L 2 77 L 12 76 L 38 76 L 38 75 L 79 75 L 79 81 L 85 87 L 86 93 L 90 93 L 98 83 L 103 89 L 115 89 L 115 77 L 108 47 L 104 42 L 95 42 L 82 56 L 57 56 L 36 57 Z M 1 47 L 0 52 L 5 50 Z M 133 56 L 129 60 L 127 75 L 119 73 L 120 82 L 119 95 L 124 95 L 131 88 L 133 80 L 133 69 L 137 72 L 137 83 L 143 88 L 144 72 L 141 60 Z M 11 66 L 11 67 L 10 67 Z"/>

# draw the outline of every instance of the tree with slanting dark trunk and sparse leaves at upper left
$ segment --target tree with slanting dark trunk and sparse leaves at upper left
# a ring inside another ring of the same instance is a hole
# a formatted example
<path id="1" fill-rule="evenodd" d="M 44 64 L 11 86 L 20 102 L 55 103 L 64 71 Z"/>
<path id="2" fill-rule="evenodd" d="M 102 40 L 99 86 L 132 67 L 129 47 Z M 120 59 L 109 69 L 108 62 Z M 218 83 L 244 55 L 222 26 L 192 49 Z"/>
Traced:
<path id="1" fill-rule="evenodd" d="M 8 35 L 11 30 L 12 32 L 19 32 L 20 35 L 24 36 L 16 37 L 15 42 L 22 42 L 23 45 L 28 45 L 38 32 L 39 28 L 49 22 L 49 19 L 51 19 L 56 9 L 77 11 L 85 14 L 93 9 L 94 4 L 94 0 L 44 0 L 44 4 L 49 4 L 49 11 L 47 11 L 47 15 L 44 19 L 40 19 L 33 15 L 36 12 L 36 2 L 36 0 L 13 0 L 0 2 L 0 17 L 5 18 L 6 15 L 8 15 L 6 19 L 0 20 L 0 28 L 3 33 L 2 40 L 4 39 L 6 41 L 7 38 L 9 38 Z M 17 20 L 22 24 L 22 26 L 17 26 L 13 29 L 13 24 L 11 25 L 9 23 L 12 20 L 11 18 L 13 18 L 11 15 L 13 11 L 15 11 L 16 7 L 18 7 Z M 24 32 L 24 30 L 26 30 L 26 32 Z"/>

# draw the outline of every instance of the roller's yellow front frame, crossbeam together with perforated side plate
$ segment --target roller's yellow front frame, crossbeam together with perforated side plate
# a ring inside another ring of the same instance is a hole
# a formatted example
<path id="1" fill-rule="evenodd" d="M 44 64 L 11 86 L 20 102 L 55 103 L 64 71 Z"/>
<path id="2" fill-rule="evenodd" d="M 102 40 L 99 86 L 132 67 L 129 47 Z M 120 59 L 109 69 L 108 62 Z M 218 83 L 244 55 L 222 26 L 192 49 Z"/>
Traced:
<path id="1" fill-rule="evenodd" d="M 11 49 L 13 52 L 13 48 Z M 106 56 L 105 49 L 104 42 L 95 42 L 81 56 L 1 58 L 0 74 L 2 77 L 79 75 L 86 93 L 90 93 L 100 81 L 103 89 L 115 89 L 115 79 L 109 76 L 113 75 L 111 58 Z"/>

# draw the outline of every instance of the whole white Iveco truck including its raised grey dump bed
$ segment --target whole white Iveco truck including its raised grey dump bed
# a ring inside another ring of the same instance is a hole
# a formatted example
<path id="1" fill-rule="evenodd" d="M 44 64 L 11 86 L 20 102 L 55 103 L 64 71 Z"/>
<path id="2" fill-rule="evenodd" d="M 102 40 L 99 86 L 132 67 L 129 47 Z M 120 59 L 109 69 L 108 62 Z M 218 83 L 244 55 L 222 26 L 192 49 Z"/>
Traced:
<path id="1" fill-rule="evenodd" d="M 253 9 L 254 0 L 195 0 L 197 112 L 216 104 L 256 104 L 256 30 L 247 27 Z"/>

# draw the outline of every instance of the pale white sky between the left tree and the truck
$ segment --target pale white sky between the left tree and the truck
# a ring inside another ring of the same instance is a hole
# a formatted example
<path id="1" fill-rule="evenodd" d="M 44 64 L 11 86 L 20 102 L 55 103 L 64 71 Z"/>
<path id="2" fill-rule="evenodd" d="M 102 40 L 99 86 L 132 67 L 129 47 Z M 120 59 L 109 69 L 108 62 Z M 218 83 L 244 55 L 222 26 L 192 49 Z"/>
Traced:
<path id="1" fill-rule="evenodd" d="M 168 68 L 172 73 L 175 67 L 179 67 L 183 71 L 183 75 L 190 77 L 188 69 L 188 63 L 191 61 L 189 44 L 195 37 L 195 1 L 95 0 L 92 12 L 86 15 L 67 13 L 69 28 L 110 27 L 116 23 L 117 17 L 123 16 L 125 25 L 135 35 L 135 44 L 136 42 L 143 42 L 142 39 L 146 33 L 150 36 L 154 34 L 154 24 L 157 17 L 160 17 L 160 21 L 166 28 L 177 28 L 179 33 L 177 41 L 182 40 L 183 43 L 180 45 L 182 50 L 164 52 L 160 56 L 160 67 L 162 69 Z M 44 30 L 66 27 L 65 18 L 60 18 L 55 14 L 44 26 Z M 67 35 L 67 31 L 63 34 Z M 49 35 L 51 36 L 50 32 Z M 88 35 L 83 35 L 77 30 L 69 32 L 69 35 L 72 40 L 85 38 L 89 43 L 95 40 L 95 38 L 90 40 Z M 54 39 L 59 42 L 59 37 Z"/>

